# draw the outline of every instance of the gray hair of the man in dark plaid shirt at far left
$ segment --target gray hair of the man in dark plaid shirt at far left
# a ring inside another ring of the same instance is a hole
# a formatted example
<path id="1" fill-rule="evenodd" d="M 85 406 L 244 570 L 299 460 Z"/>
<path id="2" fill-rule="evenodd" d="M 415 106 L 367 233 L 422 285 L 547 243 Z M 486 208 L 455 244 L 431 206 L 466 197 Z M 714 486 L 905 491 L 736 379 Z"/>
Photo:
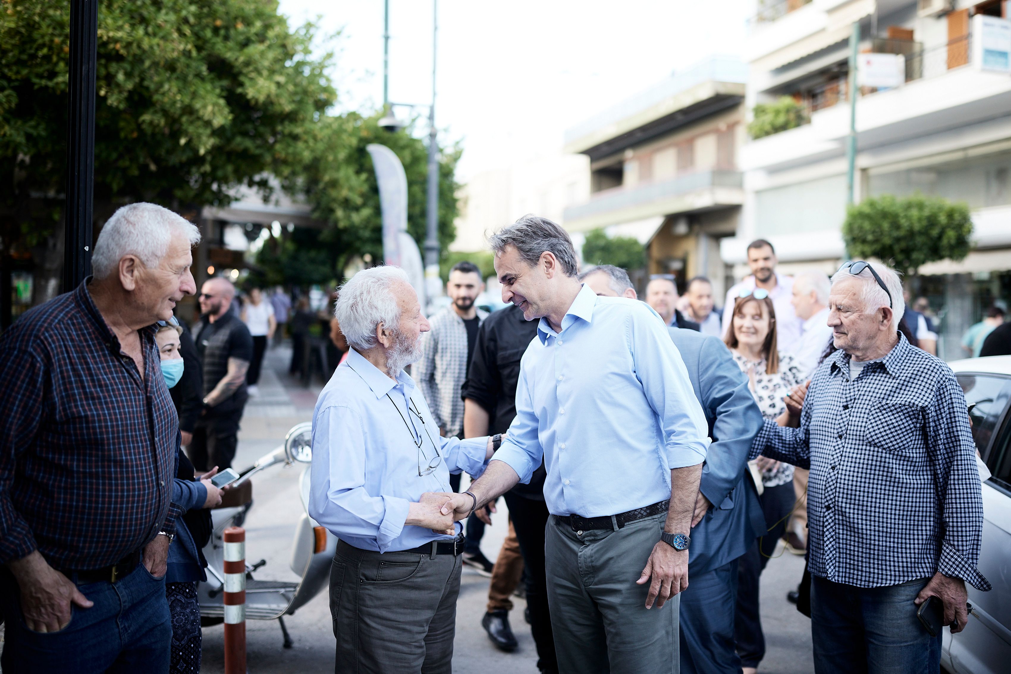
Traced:
<path id="1" fill-rule="evenodd" d="M 127 255 L 136 256 L 145 267 L 158 267 L 177 232 L 191 247 L 200 243 L 200 230 L 168 208 L 145 202 L 123 206 L 106 220 L 98 234 L 91 256 L 92 273 L 96 279 L 111 276 Z"/>

